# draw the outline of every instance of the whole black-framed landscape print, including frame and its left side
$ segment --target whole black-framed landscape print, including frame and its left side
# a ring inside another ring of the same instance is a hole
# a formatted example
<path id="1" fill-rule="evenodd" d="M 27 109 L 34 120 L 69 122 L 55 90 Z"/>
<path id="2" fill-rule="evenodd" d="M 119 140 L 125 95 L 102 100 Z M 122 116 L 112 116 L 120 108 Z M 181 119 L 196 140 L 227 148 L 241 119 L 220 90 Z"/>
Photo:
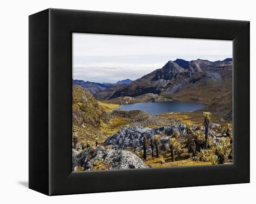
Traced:
<path id="1" fill-rule="evenodd" d="M 29 188 L 249 182 L 249 21 L 29 16 Z"/>

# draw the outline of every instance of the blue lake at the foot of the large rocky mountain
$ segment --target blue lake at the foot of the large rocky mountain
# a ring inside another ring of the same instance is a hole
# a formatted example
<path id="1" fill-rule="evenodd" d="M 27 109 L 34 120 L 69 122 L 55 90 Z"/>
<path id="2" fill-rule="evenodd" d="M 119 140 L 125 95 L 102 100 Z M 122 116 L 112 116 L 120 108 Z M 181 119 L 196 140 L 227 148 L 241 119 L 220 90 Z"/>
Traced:
<path id="1" fill-rule="evenodd" d="M 171 102 L 140 102 L 131 104 L 122 104 L 120 109 L 125 110 L 143 110 L 149 114 L 159 114 L 166 112 L 189 112 L 205 107 L 202 103 L 171 101 Z M 116 108 L 118 109 L 118 108 Z"/>

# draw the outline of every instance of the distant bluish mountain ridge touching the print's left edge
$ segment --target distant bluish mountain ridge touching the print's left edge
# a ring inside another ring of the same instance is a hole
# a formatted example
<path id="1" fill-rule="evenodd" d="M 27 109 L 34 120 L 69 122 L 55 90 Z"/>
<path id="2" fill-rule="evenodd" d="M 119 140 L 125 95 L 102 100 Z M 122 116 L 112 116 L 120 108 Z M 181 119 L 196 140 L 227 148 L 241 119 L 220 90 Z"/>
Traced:
<path id="1" fill-rule="evenodd" d="M 95 82 L 85 82 L 83 80 L 72 80 L 74 85 L 79 85 L 84 89 L 88 90 L 91 94 L 95 94 L 101 90 L 107 89 L 108 85 L 102 83 L 95 83 Z"/>

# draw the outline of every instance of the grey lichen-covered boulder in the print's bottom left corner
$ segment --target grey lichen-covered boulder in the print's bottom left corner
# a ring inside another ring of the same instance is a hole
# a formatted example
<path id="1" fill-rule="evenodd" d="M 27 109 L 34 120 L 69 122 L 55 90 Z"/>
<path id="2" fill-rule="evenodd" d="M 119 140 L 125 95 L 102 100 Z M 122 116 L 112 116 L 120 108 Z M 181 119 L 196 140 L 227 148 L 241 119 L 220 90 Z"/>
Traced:
<path id="1" fill-rule="evenodd" d="M 106 149 L 102 146 L 90 147 L 82 153 L 75 154 L 73 157 L 73 170 L 75 166 L 83 167 L 85 171 L 148 168 L 132 152 Z"/>

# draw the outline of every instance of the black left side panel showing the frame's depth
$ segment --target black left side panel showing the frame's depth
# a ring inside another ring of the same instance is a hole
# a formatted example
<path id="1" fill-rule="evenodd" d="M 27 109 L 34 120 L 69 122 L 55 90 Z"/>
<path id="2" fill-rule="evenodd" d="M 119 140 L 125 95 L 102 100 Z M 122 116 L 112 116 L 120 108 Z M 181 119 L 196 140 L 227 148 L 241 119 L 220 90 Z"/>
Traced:
<path id="1" fill-rule="evenodd" d="M 29 16 L 29 188 L 49 194 L 48 9 Z"/>

